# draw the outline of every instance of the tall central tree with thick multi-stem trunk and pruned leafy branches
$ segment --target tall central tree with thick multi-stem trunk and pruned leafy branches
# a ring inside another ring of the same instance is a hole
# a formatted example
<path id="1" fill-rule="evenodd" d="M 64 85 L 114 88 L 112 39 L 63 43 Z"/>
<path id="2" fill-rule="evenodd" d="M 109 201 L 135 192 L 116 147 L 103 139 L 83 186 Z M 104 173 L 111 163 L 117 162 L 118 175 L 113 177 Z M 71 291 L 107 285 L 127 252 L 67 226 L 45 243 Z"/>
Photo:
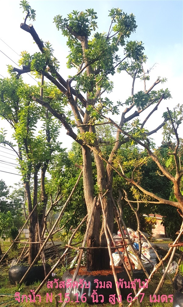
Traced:
<path id="1" fill-rule="evenodd" d="M 139 164 L 135 164 L 134 162 L 135 168 L 130 178 L 128 177 L 129 174 L 125 174 L 122 168 L 123 161 L 117 165 L 115 164 L 116 154 L 121 145 L 126 142 L 129 142 L 131 145 L 133 142 L 137 142 L 145 147 L 158 167 L 165 172 L 165 175 L 168 175 L 167 177 L 170 180 L 175 181 L 167 173 L 166 169 L 162 167 L 158 158 L 149 147 L 149 136 L 165 125 L 169 115 L 166 114 L 163 122 L 159 123 L 152 131 L 145 129 L 146 122 L 153 112 L 157 110 L 161 101 L 170 98 L 171 95 L 168 89 L 155 90 L 158 84 L 166 81 L 164 78 L 161 79 L 158 77 L 148 89 L 146 88 L 146 83 L 150 78 L 150 69 L 149 71 L 144 70 L 143 65 L 147 61 L 143 52 L 144 46 L 141 41 L 129 40 L 130 34 L 135 32 L 137 27 L 134 15 L 128 15 L 119 8 L 110 10 L 110 24 L 106 33 L 98 33 L 96 31 L 97 15 L 92 9 L 88 9 L 85 12 L 73 11 L 65 18 L 60 15 L 56 16 L 54 18 L 56 27 L 67 37 L 67 45 L 70 49 L 67 67 L 76 68 L 74 76 L 69 76 L 68 80 L 64 80 L 58 72 L 58 62 L 53 56 L 53 50 L 50 45 L 43 43 L 39 39 L 32 24 L 26 24 L 27 18 L 35 19 L 35 11 L 31 9 L 25 0 L 21 1 L 21 6 L 24 12 L 27 13 L 24 23 L 21 24 L 21 29 L 31 34 L 40 52 L 33 55 L 24 52 L 20 61 L 21 64 L 26 65 L 24 70 L 16 68 L 14 70 L 18 72 L 18 75 L 30 70 L 42 74 L 42 76 L 45 76 L 57 86 L 62 93 L 62 99 L 65 104 L 71 106 L 74 120 L 68 120 L 68 116 L 64 112 L 60 112 L 58 103 L 54 103 L 54 101 L 48 102 L 44 96 L 42 99 L 39 99 L 36 95 L 32 97 L 33 100 L 59 119 L 67 130 L 67 134 L 82 146 L 84 197 L 88 216 L 90 216 L 95 197 L 92 156 L 94 157 L 97 170 L 98 191 L 101 194 L 106 193 L 103 197 L 103 204 L 106 222 L 111 231 L 114 222 L 112 189 L 114 170 L 129 182 L 130 185 L 136 186 L 137 189 L 146 193 L 146 195 L 155 198 L 159 202 L 181 207 L 178 203 L 164 200 L 155 193 L 146 191 L 139 185 L 138 181 L 135 180 L 135 172 L 142 161 Z M 126 74 L 132 77 L 132 91 L 125 100 L 125 103 L 118 101 L 115 104 L 103 95 L 105 92 L 112 92 L 113 82 L 111 81 L 111 76 L 116 71 L 126 72 Z M 140 78 L 144 83 L 143 89 L 136 92 L 134 88 L 135 81 Z M 111 113 L 119 114 L 118 107 L 121 108 L 122 105 L 125 108 L 123 108 L 120 115 L 120 122 L 117 124 L 109 118 L 110 115 L 106 115 Z M 151 109 L 152 105 L 154 105 L 153 109 Z M 148 108 L 151 110 L 149 115 L 140 123 L 138 117 Z M 116 140 L 107 159 L 103 157 L 101 151 L 101 146 L 105 144 L 101 143 L 101 138 L 96 137 L 95 131 L 95 126 L 100 125 L 98 121 L 103 119 L 105 119 L 105 122 L 101 122 L 101 124 L 106 124 L 108 127 L 114 125 L 117 128 Z M 76 129 L 74 129 L 75 127 L 77 127 L 77 133 Z M 177 172 L 179 172 L 178 169 Z M 179 192 L 178 195 L 180 196 Z M 181 197 L 179 197 L 179 201 Z M 87 238 L 87 246 L 89 247 L 106 246 L 104 221 L 100 228 L 100 215 L 101 209 L 97 205 Z M 98 270 L 108 267 L 109 255 L 107 251 L 100 249 L 88 250 L 88 270 Z"/>

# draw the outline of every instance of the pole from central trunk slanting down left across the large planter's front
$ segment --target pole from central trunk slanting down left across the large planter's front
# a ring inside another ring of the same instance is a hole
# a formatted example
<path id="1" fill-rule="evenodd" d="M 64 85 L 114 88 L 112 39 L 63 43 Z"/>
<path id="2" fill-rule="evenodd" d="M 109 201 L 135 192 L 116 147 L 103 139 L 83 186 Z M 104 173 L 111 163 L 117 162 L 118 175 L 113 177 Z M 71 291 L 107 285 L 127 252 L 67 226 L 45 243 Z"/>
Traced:
<path id="1" fill-rule="evenodd" d="M 85 235 L 84 235 L 82 247 L 84 247 L 85 244 L 86 244 L 89 228 L 90 228 L 90 225 L 91 225 L 91 222 L 92 222 L 93 213 L 94 213 L 94 210 L 95 210 L 96 201 L 97 201 L 97 196 L 95 196 L 94 201 L 93 201 L 93 208 L 92 208 L 92 212 L 91 212 L 91 215 L 90 215 L 90 218 L 89 218 L 89 221 L 88 221 L 88 225 L 87 225 L 87 228 L 86 228 L 86 232 L 85 232 Z M 71 291 L 73 289 L 73 282 L 75 282 L 77 274 L 78 274 L 78 271 L 79 271 L 79 268 L 80 268 L 80 263 L 81 263 L 82 256 L 83 256 L 83 250 L 80 251 L 79 259 L 78 259 L 78 262 L 77 262 L 77 267 L 76 267 L 76 270 L 75 270 L 75 272 L 73 274 L 72 286 L 69 289 L 69 297 L 70 297 Z M 66 304 L 67 304 L 67 301 L 64 300 L 64 302 L 63 302 L 61 307 L 65 307 Z"/>

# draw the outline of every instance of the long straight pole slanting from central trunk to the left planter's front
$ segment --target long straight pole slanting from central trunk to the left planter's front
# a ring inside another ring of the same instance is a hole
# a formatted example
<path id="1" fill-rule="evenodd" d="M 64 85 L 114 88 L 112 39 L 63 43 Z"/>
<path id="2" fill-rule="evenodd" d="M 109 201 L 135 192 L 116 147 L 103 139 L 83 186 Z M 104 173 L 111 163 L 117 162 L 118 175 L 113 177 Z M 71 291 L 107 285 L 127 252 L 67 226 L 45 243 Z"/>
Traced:
<path id="1" fill-rule="evenodd" d="M 77 179 L 77 183 L 79 182 L 79 180 L 80 180 L 80 178 L 81 178 L 81 176 L 82 176 L 82 173 L 83 173 L 83 171 L 81 170 L 80 175 L 79 175 L 79 177 L 78 177 L 78 179 Z M 72 195 L 73 195 L 75 189 L 76 189 L 76 184 L 75 184 L 75 186 L 73 187 L 72 192 L 70 193 L 68 199 L 66 200 L 66 202 L 65 202 L 65 204 L 64 204 L 64 206 L 63 206 L 63 208 L 62 208 L 62 210 L 61 210 L 61 212 L 60 212 L 60 214 L 59 214 L 59 216 L 58 216 L 58 218 L 57 218 L 57 220 L 55 221 L 53 227 L 51 228 L 50 233 L 48 234 L 46 240 L 44 241 L 42 247 L 40 248 L 40 250 L 39 250 L 37 256 L 35 257 L 34 261 L 33 261 L 32 264 L 29 266 L 28 270 L 25 272 L 24 276 L 22 277 L 22 279 L 21 279 L 21 281 L 20 281 L 20 283 L 19 283 L 20 285 L 22 284 L 22 282 L 24 281 L 25 277 L 27 276 L 27 274 L 28 274 L 29 271 L 31 270 L 32 266 L 35 264 L 35 262 L 36 262 L 37 259 L 39 258 L 39 256 L 40 256 L 40 254 L 41 254 L 43 248 L 45 247 L 45 245 L 47 244 L 47 242 L 48 242 L 50 236 L 52 235 L 52 232 L 54 231 L 55 226 L 57 225 L 57 223 L 58 223 L 59 220 L 61 219 L 61 217 L 62 217 L 62 215 L 63 215 L 63 213 L 64 213 L 64 211 L 65 211 L 65 208 L 66 208 L 67 204 L 69 203 L 69 201 L 70 201 L 70 199 L 71 199 L 71 197 L 72 197 Z"/>

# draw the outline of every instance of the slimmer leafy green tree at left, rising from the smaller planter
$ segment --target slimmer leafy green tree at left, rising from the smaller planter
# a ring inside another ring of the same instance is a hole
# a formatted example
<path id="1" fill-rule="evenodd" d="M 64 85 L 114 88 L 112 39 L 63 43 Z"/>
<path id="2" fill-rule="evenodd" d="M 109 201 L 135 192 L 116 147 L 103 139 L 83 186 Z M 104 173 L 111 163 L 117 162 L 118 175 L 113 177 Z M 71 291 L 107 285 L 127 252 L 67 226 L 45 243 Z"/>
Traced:
<path id="1" fill-rule="evenodd" d="M 59 129 L 55 119 L 48 111 L 40 110 L 32 103 L 32 95 L 40 93 L 40 87 L 24 84 L 21 77 L 9 67 L 10 78 L 0 80 L 0 116 L 13 127 L 15 144 L 6 139 L 6 131 L 1 131 L 0 142 L 10 146 L 17 154 L 19 170 L 25 188 L 28 215 L 39 203 L 30 218 L 29 242 L 39 242 L 38 228 L 43 235 L 44 218 L 47 206 L 45 190 L 46 171 L 53 153 L 60 150 L 57 141 Z M 43 84 L 47 99 L 59 100 L 60 92 L 54 87 Z M 42 130 L 35 134 L 35 130 L 42 124 Z M 40 171 L 40 183 L 38 172 Z M 31 187 L 33 182 L 33 186 Z M 40 184 L 40 190 L 39 190 Z M 29 264 L 34 260 L 39 244 L 29 245 Z"/>

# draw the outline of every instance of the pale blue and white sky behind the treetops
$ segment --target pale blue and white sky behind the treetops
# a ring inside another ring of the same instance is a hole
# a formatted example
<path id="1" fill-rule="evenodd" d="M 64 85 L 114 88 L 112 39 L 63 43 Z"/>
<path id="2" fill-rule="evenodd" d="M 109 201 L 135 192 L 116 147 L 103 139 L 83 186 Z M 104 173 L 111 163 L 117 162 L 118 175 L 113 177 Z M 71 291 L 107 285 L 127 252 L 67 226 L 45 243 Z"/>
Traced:
<path id="1" fill-rule="evenodd" d="M 37 46 L 33 44 L 32 37 L 29 33 L 20 29 L 20 23 L 23 22 L 22 9 L 19 6 L 18 0 L 4 0 L 1 2 L 0 10 L 0 39 L 13 48 L 18 54 L 26 50 L 30 53 L 39 51 Z M 113 7 L 119 7 L 124 12 L 133 13 L 136 17 L 136 24 L 138 25 L 136 33 L 130 39 L 142 41 L 145 47 L 145 54 L 148 56 L 148 63 L 146 69 L 155 64 L 154 69 L 151 71 L 151 85 L 158 76 L 166 77 L 168 82 L 164 88 L 168 87 L 171 91 L 173 99 L 167 100 L 164 104 L 160 105 L 158 113 L 152 117 L 149 122 L 149 129 L 155 128 L 158 123 L 162 122 L 162 112 L 166 111 L 168 106 L 172 109 L 180 101 L 180 89 L 182 88 L 182 29 L 183 29 L 183 2 L 182 1 L 37 1 L 30 0 L 30 5 L 36 10 L 36 21 L 33 22 L 34 28 L 39 37 L 43 41 L 50 41 L 55 50 L 55 56 L 60 61 L 62 69 L 60 73 L 66 79 L 71 72 L 66 69 L 66 56 L 68 49 L 66 46 L 66 38 L 62 36 L 61 31 L 56 29 L 53 23 L 55 15 L 62 15 L 66 17 L 72 10 L 85 10 L 87 8 L 94 8 L 97 12 L 98 31 L 106 32 L 109 29 L 110 18 L 108 17 L 108 10 Z M 30 22 L 27 21 L 29 24 Z M 0 50 L 4 52 L 9 58 L 17 63 L 18 55 L 14 53 L 8 46 L 0 40 Z M 4 54 L 0 52 L 0 74 L 4 77 L 7 76 L 7 64 L 12 64 Z M 29 84 L 35 84 L 35 81 L 28 75 L 24 75 L 24 80 Z M 117 100 L 125 100 L 131 91 L 131 80 L 129 76 L 115 74 L 114 91 L 112 96 L 114 102 Z M 160 86 L 159 88 L 162 88 Z M 135 91 L 142 89 L 142 83 L 137 83 Z M 158 88 L 157 88 L 158 89 Z M 143 89 L 142 89 L 143 90 Z M 146 114 L 144 113 L 144 116 Z M 0 128 L 8 129 L 11 131 L 6 122 L 0 121 Z M 62 130 L 61 139 L 63 147 L 69 147 L 71 139 L 65 136 L 65 130 Z M 61 141 L 61 140 L 60 140 Z M 160 145 L 162 142 L 161 132 L 156 134 L 155 142 Z M 7 151 L 8 152 L 8 151 Z M 0 165 L 1 167 L 1 165 Z M 10 170 L 9 170 L 10 171 Z M 16 172 L 16 170 L 13 170 Z M 8 177 L 6 173 L 3 179 L 8 183 L 13 184 L 19 176 L 12 175 Z"/>

